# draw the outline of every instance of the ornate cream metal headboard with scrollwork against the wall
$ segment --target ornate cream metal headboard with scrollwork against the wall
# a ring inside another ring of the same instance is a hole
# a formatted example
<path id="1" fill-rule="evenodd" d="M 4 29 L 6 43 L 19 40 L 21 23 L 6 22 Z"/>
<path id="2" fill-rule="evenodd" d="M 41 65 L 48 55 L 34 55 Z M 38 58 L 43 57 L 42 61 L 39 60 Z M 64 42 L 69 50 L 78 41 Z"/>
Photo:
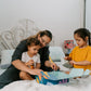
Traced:
<path id="1" fill-rule="evenodd" d="M 15 49 L 18 42 L 31 35 L 36 35 L 40 29 L 31 20 L 21 20 L 17 25 L 10 30 L 0 34 L 0 57 L 2 50 Z M 50 43 L 54 46 L 54 40 Z"/>

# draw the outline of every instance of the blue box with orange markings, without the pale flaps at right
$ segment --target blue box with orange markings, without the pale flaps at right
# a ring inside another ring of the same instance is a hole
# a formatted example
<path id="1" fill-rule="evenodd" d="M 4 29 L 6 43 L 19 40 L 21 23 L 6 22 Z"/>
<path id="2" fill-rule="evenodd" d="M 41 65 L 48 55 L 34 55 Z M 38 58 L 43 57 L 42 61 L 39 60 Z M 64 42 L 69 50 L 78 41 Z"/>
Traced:
<path id="1" fill-rule="evenodd" d="M 41 74 L 42 77 L 36 76 L 36 80 L 38 83 L 58 84 L 69 82 L 69 79 L 67 78 L 68 75 L 61 72 L 41 72 Z M 63 77 L 65 78 L 63 79 Z"/>

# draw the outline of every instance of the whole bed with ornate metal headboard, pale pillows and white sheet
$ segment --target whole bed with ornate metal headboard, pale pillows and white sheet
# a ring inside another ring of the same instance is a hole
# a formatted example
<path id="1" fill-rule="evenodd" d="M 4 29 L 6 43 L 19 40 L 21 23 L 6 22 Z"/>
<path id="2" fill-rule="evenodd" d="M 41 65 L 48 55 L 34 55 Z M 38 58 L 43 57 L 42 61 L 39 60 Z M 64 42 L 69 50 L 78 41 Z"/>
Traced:
<path id="1" fill-rule="evenodd" d="M 0 75 L 11 64 L 11 56 L 18 42 L 30 35 L 35 35 L 39 30 L 40 29 L 31 20 L 22 20 L 16 26 L 11 28 L 11 30 L 2 31 L 0 34 Z M 54 60 L 54 62 L 61 67 L 61 69 L 69 70 L 69 68 L 63 66 L 65 62 L 60 56 L 64 56 L 64 52 L 61 47 L 55 47 L 54 37 L 50 46 L 52 60 Z M 88 76 L 83 78 L 70 79 L 68 83 L 47 86 L 37 83 L 36 80 L 21 80 L 5 86 L 0 91 L 90 91 L 90 80 L 91 77 Z"/>

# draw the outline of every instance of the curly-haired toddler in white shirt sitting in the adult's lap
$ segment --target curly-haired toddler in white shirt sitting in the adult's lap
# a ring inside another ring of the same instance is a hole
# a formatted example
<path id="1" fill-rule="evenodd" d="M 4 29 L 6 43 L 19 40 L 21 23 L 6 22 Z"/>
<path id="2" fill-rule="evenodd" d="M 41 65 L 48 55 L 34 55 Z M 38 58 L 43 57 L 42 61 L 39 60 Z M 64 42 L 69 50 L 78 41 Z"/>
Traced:
<path id="1" fill-rule="evenodd" d="M 40 41 L 37 38 L 31 37 L 27 41 L 27 52 L 23 52 L 22 61 L 30 68 L 40 68 L 40 55 L 38 50 L 40 49 Z M 35 76 L 25 72 L 20 73 L 20 78 L 23 80 L 32 80 Z"/>

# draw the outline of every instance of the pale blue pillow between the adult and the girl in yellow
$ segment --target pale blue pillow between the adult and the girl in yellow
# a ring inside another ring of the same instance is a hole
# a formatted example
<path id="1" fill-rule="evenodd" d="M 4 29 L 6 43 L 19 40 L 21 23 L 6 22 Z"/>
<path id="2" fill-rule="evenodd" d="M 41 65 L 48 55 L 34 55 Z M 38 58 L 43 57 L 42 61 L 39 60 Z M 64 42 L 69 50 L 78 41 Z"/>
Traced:
<path id="1" fill-rule="evenodd" d="M 53 62 L 61 62 L 61 57 L 65 56 L 61 47 L 50 47 L 49 50 Z"/>

